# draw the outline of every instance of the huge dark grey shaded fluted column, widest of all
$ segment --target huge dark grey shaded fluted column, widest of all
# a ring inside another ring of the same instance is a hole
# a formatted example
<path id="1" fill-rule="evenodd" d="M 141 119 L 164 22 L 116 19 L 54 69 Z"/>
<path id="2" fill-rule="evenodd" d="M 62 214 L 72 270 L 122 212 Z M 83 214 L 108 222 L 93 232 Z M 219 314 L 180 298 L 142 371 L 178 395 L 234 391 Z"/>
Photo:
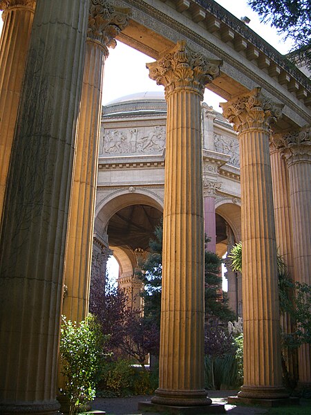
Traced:
<path id="1" fill-rule="evenodd" d="M 56 414 L 64 250 L 88 0 L 38 1 L 0 236 L 0 412 Z"/>

